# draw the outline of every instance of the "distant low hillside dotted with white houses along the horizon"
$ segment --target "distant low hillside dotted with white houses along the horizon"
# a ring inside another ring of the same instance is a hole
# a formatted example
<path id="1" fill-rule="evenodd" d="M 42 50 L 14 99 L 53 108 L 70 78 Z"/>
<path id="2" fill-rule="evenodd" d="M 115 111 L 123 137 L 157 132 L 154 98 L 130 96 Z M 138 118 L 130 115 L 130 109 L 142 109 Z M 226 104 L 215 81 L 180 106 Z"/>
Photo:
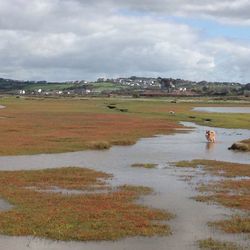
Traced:
<path id="1" fill-rule="evenodd" d="M 15 95 L 249 96 L 250 83 L 190 81 L 173 78 L 119 77 L 96 81 L 20 81 L 0 78 L 0 93 Z"/>

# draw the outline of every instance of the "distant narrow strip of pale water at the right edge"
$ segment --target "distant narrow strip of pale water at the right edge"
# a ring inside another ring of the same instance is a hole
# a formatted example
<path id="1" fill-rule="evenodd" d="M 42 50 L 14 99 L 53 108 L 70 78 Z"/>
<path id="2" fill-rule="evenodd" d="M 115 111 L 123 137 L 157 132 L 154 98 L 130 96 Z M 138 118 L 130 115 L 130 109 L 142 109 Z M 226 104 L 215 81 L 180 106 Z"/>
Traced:
<path id="1" fill-rule="evenodd" d="M 244 113 L 250 114 L 250 107 L 196 107 L 194 111 L 209 113 Z"/>

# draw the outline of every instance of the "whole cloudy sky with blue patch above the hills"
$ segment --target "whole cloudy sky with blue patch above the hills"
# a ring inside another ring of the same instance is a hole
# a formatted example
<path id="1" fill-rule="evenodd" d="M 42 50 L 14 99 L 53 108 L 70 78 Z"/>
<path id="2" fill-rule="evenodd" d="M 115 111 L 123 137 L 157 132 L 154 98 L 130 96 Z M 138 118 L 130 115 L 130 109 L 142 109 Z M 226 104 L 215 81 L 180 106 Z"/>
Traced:
<path id="1" fill-rule="evenodd" d="M 0 77 L 250 82 L 250 0 L 0 0 Z"/>

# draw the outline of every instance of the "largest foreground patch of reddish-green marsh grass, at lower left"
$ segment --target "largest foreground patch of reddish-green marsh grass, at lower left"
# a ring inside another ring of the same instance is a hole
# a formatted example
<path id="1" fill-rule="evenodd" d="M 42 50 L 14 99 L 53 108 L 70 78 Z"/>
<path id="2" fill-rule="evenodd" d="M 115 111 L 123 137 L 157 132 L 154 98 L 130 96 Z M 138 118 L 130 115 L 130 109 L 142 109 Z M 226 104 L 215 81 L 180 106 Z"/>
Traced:
<path id="1" fill-rule="evenodd" d="M 0 195 L 13 206 L 0 212 L 0 234 L 84 241 L 170 233 L 169 226 L 159 221 L 171 214 L 134 202 L 151 189 L 122 186 L 111 192 L 108 178 L 106 173 L 75 167 L 1 171 Z M 108 191 L 71 195 L 46 191 L 55 186 Z"/>

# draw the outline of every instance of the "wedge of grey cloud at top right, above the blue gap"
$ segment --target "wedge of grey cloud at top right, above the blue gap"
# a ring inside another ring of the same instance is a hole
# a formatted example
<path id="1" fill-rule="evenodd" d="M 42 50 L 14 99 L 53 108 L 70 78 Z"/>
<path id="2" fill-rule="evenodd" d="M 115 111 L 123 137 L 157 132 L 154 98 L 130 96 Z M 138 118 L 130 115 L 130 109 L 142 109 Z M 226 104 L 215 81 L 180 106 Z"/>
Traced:
<path id="1" fill-rule="evenodd" d="M 85 1 L 78 0 L 79 3 Z M 93 1 L 92 1 L 93 2 Z M 94 1 L 98 3 L 100 1 Z M 228 23 L 250 25 L 249 0 L 108 0 L 120 9 L 151 12 L 161 15 L 182 15 L 188 17 L 209 17 Z"/>

